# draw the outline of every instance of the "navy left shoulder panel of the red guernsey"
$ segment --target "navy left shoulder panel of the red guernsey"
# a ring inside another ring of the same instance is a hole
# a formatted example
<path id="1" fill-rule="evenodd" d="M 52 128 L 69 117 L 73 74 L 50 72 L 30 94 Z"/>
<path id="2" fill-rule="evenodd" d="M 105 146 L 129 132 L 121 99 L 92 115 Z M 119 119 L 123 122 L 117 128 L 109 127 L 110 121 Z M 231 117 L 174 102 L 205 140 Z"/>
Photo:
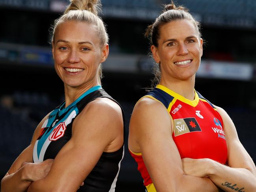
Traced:
<path id="1" fill-rule="evenodd" d="M 153 97 L 152 99 L 160 101 L 161 103 L 163 103 L 166 109 L 168 109 L 170 103 L 174 99 L 174 97 L 159 88 L 154 88 L 153 90 L 149 91 L 145 96 L 150 98 Z"/>

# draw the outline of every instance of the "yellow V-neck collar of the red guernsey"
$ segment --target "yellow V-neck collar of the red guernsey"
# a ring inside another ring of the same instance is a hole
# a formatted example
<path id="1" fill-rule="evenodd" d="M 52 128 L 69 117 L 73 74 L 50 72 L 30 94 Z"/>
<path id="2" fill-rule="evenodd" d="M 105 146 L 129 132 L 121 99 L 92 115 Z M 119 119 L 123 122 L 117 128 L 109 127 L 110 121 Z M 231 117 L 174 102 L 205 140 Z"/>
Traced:
<path id="1" fill-rule="evenodd" d="M 195 93 L 195 98 L 193 101 L 183 97 L 182 95 L 179 95 L 178 93 L 175 93 L 174 91 L 172 91 L 171 89 L 168 89 L 166 87 L 164 87 L 163 85 L 157 85 L 156 88 L 163 90 L 164 92 L 168 93 L 169 95 L 171 95 L 172 97 L 178 99 L 179 101 L 182 101 L 184 103 L 187 103 L 193 107 L 197 106 L 198 102 L 199 102 L 199 97 L 198 94 L 196 93 L 196 90 L 194 89 L 194 93 Z"/>

